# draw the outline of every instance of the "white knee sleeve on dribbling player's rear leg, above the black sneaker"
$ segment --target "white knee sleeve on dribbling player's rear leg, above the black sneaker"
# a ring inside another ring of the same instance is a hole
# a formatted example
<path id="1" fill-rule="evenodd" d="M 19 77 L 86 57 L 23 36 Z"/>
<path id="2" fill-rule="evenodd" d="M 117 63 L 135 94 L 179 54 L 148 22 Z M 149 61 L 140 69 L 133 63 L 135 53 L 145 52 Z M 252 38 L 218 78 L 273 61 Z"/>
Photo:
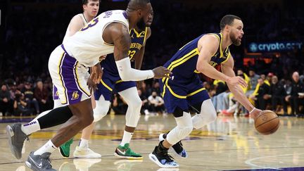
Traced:
<path id="1" fill-rule="evenodd" d="M 177 127 L 167 134 L 167 141 L 172 145 L 186 138 L 193 130 L 190 113 L 184 112 L 182 117 L 175 118 L 175 120 L 177 121 Z"/>

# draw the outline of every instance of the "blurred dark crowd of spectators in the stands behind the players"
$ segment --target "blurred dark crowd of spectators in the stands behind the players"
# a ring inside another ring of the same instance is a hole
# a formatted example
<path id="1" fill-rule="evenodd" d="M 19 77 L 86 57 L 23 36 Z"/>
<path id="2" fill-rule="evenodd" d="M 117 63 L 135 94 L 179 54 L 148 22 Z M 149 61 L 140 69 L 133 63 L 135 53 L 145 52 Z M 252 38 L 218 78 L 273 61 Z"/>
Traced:
<path id="1" fill-rule="evenodd" d="M 66 1 L 74 4 L 74 8 L 66 2 L 56 2 L 49 8 L 34 8 L 18 3 L 9 6 L 5 18 L 5 50 L 0 51 L 3 56 L 0 58 L 2 115 L 34 115 L 53 107 L 51 78 L 47 68 L 49 55 L 61 44 L 70 18 L 82 12 L 81 5 L 75 6 L 79 1 Z M 296 8 L 298 2 L 280 2 L 255 5 L 246 2 L 227 3 L 224 6 L 213 4 L 197 8 L 180 1 L 165 3 L 152 0 L 152 35 L 146 43 L 142 68 L 163 65 L 181 46 L 200 34 L 219 32 L 223 15 L 239 15 L 244 23 L 245 36 L 243 44 L 232 46 L 230 51 L 235 59 L 235 68 L 240 68 L 236 74 L 248 81 L 249 87 L 244 92 L 258 108 L 274 111 L 281 109 L 285 114 L 300 115 L 303 113 L 301 93 L 304 92 L 304 49 L 281 52 L 279 55 L 265 54 L 271 63 L 256 58 L 255 63 L 249 63 L 248 67 L 243 65 L 246 41 L 303 40 L 304 11 Z M 101 1 L 100 12 L 111 9 L 117 8 L 103 6 Z M 236 115 L 248 113 L 227 91 L 224 82 L 205 77 L 202 77 L 202 81 L 217 112 Z M 140 84 L 139 95 L 143 100 L 141 112 L 165 113 L 158 82 L 148 80 Z M 125 113 L 126 106 L 118 94 L 113 95 L 114 113 Z"/>

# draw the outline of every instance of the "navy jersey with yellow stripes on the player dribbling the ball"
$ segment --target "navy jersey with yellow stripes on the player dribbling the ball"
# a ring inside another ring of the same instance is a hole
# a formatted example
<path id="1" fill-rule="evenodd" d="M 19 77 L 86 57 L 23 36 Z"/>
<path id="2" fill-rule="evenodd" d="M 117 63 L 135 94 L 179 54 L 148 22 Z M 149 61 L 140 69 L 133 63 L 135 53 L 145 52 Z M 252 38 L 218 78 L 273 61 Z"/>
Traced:
<path id="1" fill-rule="evenodd" d="M 213 54 L 209 64 L 215 67 L 220 63 L 224 63 L 229 58 L 229 46 L 222 51 L 222 34 L 212 33 L 220 41 L 220 45 L 217 51 Z M 196 63 L 198 61 L 198 40 L 203 37 L 204 34 L 192 40 L 188 44 L 184 45 L 175 55 L 165 63 L 164 67 L 172 71 L 171 79 L 163 78 L 163 82 L 170 84 L 188 84 L 194 79 L 198 78 L 196 70 Z"/>

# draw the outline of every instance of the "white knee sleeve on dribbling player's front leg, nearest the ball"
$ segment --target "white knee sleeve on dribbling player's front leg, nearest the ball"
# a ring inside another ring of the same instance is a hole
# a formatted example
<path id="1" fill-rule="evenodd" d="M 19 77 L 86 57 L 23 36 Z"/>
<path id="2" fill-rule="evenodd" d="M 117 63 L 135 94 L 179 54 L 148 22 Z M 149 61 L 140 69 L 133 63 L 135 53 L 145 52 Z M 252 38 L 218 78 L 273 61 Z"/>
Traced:
<path id="1" fill-rule="evenodd" d="M 193 127 L 195 129 L 200 129 L 201 127 L 215 121 L 217 118 L 217 113 L 210 99 L 203 101 L 201 106 L 201 113 L 194 115 L 192 117 Z"/>

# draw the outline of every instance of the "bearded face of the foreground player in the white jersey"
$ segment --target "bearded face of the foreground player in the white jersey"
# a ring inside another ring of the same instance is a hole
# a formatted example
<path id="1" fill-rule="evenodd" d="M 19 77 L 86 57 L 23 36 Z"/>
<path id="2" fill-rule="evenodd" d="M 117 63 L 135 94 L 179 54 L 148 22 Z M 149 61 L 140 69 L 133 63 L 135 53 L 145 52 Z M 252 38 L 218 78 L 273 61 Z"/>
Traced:
<path id="1" fill-rule="evenodd" d="M 150 3 L 146 8 L 138 11 L 139 21 L 137 22 L 137 28 L 144 30 L 146 27 L 150 27 L 153 21 L 153 8 Z"/>

